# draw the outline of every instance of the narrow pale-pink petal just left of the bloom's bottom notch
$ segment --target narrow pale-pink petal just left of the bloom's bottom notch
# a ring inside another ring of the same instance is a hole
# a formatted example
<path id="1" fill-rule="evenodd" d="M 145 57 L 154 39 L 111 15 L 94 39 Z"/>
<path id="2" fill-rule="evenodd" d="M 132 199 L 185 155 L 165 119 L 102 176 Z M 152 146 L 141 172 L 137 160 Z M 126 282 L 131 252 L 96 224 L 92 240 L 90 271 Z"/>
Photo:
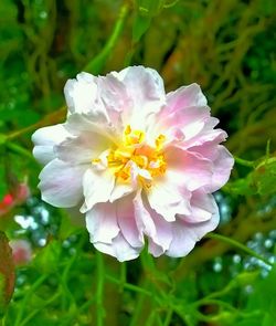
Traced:
<path id="1" fill-rule="evenodd" d="M 120 232 L 127 242 L 134 248 L 141 248 L 144 236 L 136 223 L 132 199 L 132 196 L 128 196 L 116 201 L 117 220 Z"/>

